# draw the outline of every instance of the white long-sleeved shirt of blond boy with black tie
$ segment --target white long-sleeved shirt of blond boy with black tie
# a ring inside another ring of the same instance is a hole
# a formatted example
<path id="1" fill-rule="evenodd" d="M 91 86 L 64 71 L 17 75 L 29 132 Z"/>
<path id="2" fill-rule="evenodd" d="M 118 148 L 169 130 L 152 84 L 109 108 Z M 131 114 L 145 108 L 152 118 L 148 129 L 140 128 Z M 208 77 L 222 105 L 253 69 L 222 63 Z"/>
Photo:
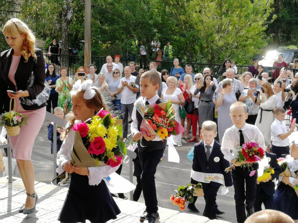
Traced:
<path id="1" fill-rule="evenodd" d="M 265 140 L 263 134 L 260 132 L 260 130 L 255 125 L 250 125 L 245 123 L 245 125 L 241 128 L 242 134 L 244 136 L 244 142 L 257 142 L 260 147 L 265 150 Z M 224 140 L 230 140 L 235 141 L 238 144 L 240 144 L 240 132 L 239 128 L 237 128 L 235 125 L 228 128 L 224 134 L 223 141 Z M 224 143 L 221 145 L 221 152 L 224 154 L 224 158 L 227 161 L 231 161 L 232 159 L 235 159 L 238 157 L 238 151 L 232 150 L 232 148 L 224 148 Z"/>

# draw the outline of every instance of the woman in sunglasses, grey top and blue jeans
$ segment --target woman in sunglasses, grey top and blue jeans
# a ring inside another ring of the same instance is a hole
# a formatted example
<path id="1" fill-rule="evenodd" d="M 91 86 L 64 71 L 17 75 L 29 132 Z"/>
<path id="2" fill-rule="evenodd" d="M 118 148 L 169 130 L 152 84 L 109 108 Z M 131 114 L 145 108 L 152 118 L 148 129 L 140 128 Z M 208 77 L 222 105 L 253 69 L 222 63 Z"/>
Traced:
<path id="1" fill-rule="evenodd" d="M 121 73 L 119 69 L 113 71 L 113 78 L 109 80 L 108 91 L 114 100 L 112 101 L 116 106 L 117 111 L 121 111 L 121 92 L 118 92 L 118 86 L 121 80 Z"/>

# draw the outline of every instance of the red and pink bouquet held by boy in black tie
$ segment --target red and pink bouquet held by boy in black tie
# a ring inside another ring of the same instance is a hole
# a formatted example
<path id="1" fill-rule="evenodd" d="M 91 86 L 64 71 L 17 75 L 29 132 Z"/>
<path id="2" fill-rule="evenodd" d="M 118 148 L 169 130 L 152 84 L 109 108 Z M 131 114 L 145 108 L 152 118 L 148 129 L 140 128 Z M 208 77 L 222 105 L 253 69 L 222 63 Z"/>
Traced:
<path id="1" fill-rule="evenodd" d="M 245 142 L 241 147 L 240 151 L 238 151 L 238 157 L 236 158 L 236 162 L 241 163 L 243 161 L 246 164 L 241 164 L 241 166 L 248 166 L 252 167 L 252 164 L 256 163 L 257 161 L 261 161 L 265 156 L 265 151 L 257 142 Z M 229 172 L 230 170 L 234 169 L 235 166 L 232 165 L 225 169 L 225 172 Z M 253 170 L 250 169 L 250 170 Z M 256 173 L 255 170 L 251 171 L 250 176 L 253 176 Z"/>

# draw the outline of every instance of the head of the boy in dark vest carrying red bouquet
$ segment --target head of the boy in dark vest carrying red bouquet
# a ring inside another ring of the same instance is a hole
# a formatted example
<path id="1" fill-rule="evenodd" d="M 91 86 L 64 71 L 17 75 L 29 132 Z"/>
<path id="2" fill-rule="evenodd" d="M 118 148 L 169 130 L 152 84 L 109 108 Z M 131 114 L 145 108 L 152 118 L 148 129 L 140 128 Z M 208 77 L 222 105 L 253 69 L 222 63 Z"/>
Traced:
<path id="1" fill-rule="evenodd" d="M 156 70 L 148 70 L 142 74 L 140 80 L 140 90 L 142 97 L 150 99 L 156 95 L 162 82 L 162 78 Z"/>

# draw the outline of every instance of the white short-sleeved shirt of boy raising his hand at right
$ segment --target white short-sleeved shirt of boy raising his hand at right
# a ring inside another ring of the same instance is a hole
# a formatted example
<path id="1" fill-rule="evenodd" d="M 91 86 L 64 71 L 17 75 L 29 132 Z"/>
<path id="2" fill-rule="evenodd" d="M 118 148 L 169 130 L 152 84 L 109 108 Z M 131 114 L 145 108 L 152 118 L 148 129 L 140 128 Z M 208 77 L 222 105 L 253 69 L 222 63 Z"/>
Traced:
<path id="1" fill-rule="evenodd" d="M 287 127 L 285 126 L 284 122 L 281 122 L 278 119 L 274 119 L 273 123 L 271 124 L 271 141 L 272 141 L 272 145 L 275 146 L 289 146 L 289 139 L 281 139 L 279 137 L 280 134 L 284 134 L 287 132 Z"/>

